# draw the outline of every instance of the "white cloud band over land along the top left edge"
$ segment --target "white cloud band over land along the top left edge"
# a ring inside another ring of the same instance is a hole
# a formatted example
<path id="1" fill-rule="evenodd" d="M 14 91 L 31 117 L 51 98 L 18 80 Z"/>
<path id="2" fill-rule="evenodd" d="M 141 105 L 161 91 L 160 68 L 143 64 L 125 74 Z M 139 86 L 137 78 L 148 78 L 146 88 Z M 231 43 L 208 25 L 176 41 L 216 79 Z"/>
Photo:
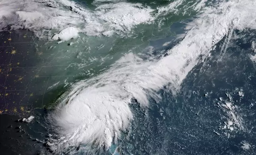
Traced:
<path id="1" fill-rule="evenodd" d="M 153 20 L 153 9 L 128 2 L 99 5 L 95 10 L 69 0 L 0 0 L 0 28 L 27 28 L 39 37 L 50 30 L 80 29 L 89 36 L 128 34 L 134 26 Z M 73 35 L 76 35 L 74 32 Z M 50 36 L 51 37 L 51 36 Z"/>

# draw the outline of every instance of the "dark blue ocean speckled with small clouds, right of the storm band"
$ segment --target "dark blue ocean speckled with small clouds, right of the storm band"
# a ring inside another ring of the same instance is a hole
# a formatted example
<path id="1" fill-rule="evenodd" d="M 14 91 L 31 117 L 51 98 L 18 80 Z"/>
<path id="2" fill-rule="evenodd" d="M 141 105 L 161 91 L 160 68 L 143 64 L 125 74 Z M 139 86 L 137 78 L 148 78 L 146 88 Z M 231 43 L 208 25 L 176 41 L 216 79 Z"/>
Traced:
<path id="1" fill-rule="evenodd" d="M 256 152 L 256 70 L 250 60 L 253 31 L 234 33 L 243 36 L 231 40 L 225 52 L 225 38 L 211 51 L 211 57 L 198 64 L 182 83 L 180 92 L 159 92 L 161 101 L 151 100 L 148 112 L 133 104 L 134 122 L 120 142 L 124 154 L 155 155 L 253 155 Z M 243 90 L 244 97 L 236 88 Z M 205 94 L 208 93 L 207 96 Z M 245 129 L 219 130 L 227 114 L 217 107 L 219 97 L 238 106 Z M 217 135 L 215 132 L 219 133 Z M 229 136 L 225 135 L 228 133 Z M 250 149 L 241 148 L 243 142 Z"/>

